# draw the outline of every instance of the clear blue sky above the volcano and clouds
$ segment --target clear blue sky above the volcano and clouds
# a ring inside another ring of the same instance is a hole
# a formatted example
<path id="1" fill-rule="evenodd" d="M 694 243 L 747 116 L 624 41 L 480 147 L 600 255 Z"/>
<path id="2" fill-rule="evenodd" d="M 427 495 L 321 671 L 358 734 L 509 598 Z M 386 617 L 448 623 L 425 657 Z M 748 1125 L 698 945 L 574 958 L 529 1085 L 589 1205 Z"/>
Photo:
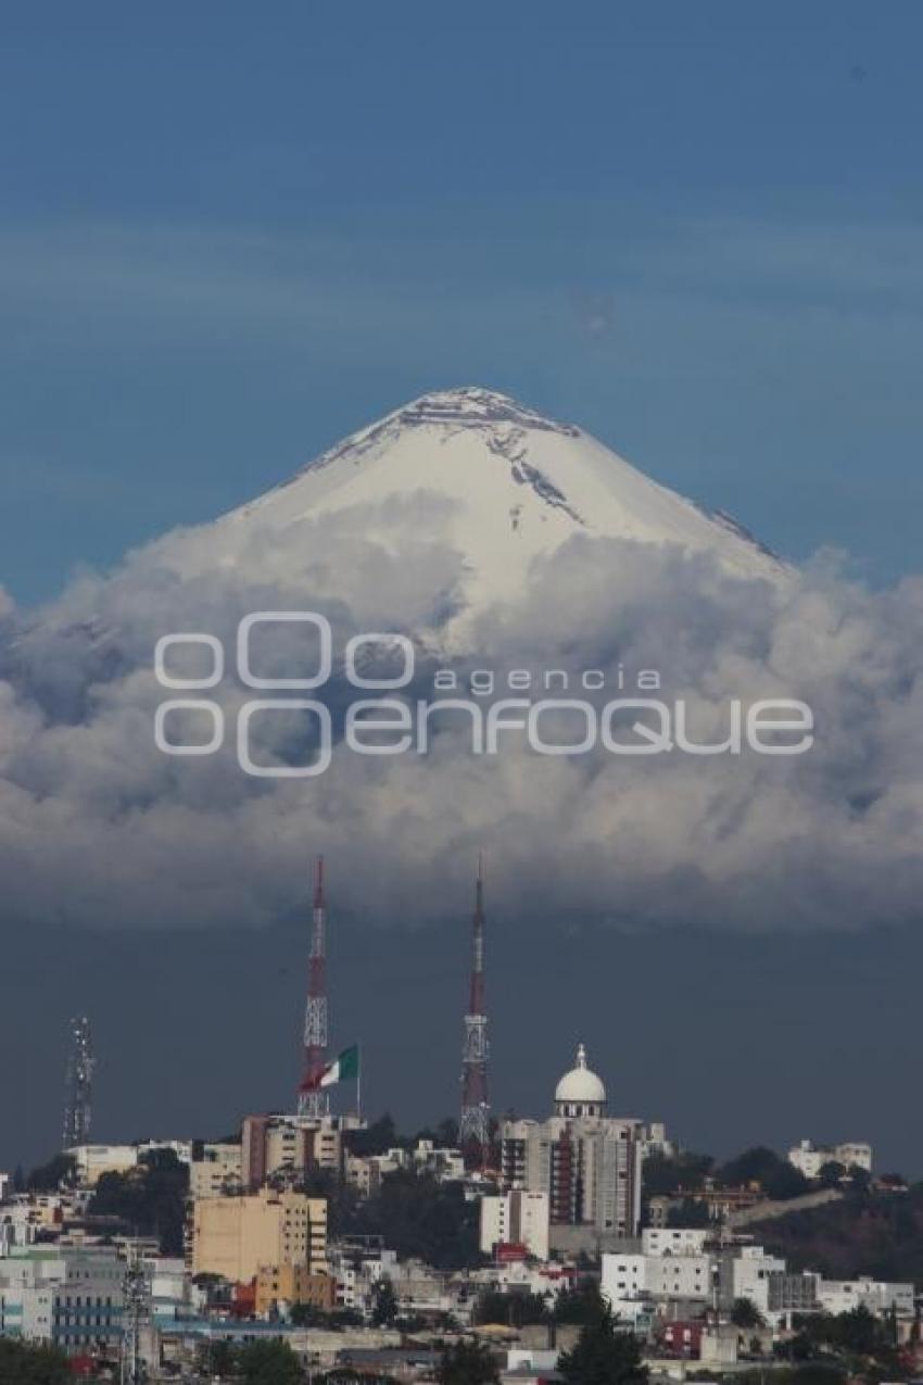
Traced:
<path id="1" fill-rule="evenodd" d="M 7 7 L 0 582 L 469 382 L 919 568 L 922 40 L 901 0 Z"/>

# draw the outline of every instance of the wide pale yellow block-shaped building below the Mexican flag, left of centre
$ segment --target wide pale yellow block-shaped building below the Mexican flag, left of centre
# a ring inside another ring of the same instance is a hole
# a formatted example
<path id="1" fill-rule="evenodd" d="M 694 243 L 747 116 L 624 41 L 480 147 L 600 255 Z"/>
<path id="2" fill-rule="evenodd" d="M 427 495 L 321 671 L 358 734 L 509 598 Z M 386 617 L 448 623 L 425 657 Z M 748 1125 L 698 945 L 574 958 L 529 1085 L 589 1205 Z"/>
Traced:
<path id="1" fill-rule="evenodd" d="M 260 1188 L 252 1197 L 197 1198 L 192 1273 L 249 1284 L 262 1266 L 327 1270 L 327 1199 Z"/>

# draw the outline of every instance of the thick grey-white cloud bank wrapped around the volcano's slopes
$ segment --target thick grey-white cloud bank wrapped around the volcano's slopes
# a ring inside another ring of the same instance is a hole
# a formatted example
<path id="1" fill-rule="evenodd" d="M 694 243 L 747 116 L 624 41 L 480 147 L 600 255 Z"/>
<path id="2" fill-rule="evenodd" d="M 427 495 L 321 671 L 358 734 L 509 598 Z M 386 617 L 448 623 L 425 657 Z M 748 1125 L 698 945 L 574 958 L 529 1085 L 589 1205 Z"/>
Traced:
<path id="1" fill-rule="evenodd" d="M 338 744 L 311 780 L 249 778 L 232 737 L 209 758 L 156 749 L 155 709 L 170 695 L 154 676 L 158 638 L 210 632 L 230 654 L 252 611 L 322 612 L 338 651 L 354 633 L 407 632 L 408 692 L 432 697 L 464 591 L 439 506 L 414 496 L 374 524 L 356 510 L 284 535 L 253 525 L 232 562 L 220 525 L 177 530 L 112 575 L 79 576 L 39 612 L 0 597 L 6 925 L 256 927 L 304 909 L 316 852 L 339 907 L 425 925 L 468 907 L 479 849 L 509 920 L 923 921 L 920 578 L 870 591 L 818 560 L 774 590 L 706 557 L 578 536 L 536 565 L 527 593 L 476 614 L 453 665 L 462 679 L 493 670 L 508 697 L 511 669 L 601 670 L 607 695 L 656 669 L 660 695 L 686 699 L 702 740 L 722 734 L 733 698 L 798 698 L 816 726 L 804 756 L 552 758 L 515 735 L 475 756 L 451 716 L 433 723 L 428 755 L 369 759 Z M 303 632 L 278 634 L 267 658 L 291 669 Z M 259 694 L 231 669 L 191 695 L 219 701 L 232 727 Z M 266 723 L 260 755 L 284 760 L 292 734 L 285 719 Z"/>

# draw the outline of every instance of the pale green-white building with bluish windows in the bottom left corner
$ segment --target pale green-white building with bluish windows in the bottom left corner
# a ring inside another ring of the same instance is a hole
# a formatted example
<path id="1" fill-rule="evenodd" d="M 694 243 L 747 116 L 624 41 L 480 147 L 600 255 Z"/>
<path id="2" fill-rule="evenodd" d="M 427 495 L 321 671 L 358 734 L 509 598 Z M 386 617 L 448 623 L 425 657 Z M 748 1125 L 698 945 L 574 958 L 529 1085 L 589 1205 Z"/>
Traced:
<path id="1" fill-rule="evenodd" d="M 125 1265 L 109 1248 L 29 1246 L 0 1260 L 0 1337 L 71 1356 L 122 1335 Z"/>

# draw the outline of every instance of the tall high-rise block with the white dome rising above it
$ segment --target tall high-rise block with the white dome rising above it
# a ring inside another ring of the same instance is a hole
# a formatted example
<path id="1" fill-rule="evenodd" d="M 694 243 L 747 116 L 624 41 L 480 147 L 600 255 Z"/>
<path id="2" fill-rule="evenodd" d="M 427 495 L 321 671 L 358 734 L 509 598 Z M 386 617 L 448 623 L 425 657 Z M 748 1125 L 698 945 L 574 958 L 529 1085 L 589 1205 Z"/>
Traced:
<path id="1" fill-rule="evenodd" d="M 606 1089 L 580 1044 L 576 1065 L 555 1090 L 555 1114 L 502 1122 L 504 1188 L 548 1195 L 555 1249 L 635 1237 L 645 1138 L 641 1120 L 606 1115 Z"/>

